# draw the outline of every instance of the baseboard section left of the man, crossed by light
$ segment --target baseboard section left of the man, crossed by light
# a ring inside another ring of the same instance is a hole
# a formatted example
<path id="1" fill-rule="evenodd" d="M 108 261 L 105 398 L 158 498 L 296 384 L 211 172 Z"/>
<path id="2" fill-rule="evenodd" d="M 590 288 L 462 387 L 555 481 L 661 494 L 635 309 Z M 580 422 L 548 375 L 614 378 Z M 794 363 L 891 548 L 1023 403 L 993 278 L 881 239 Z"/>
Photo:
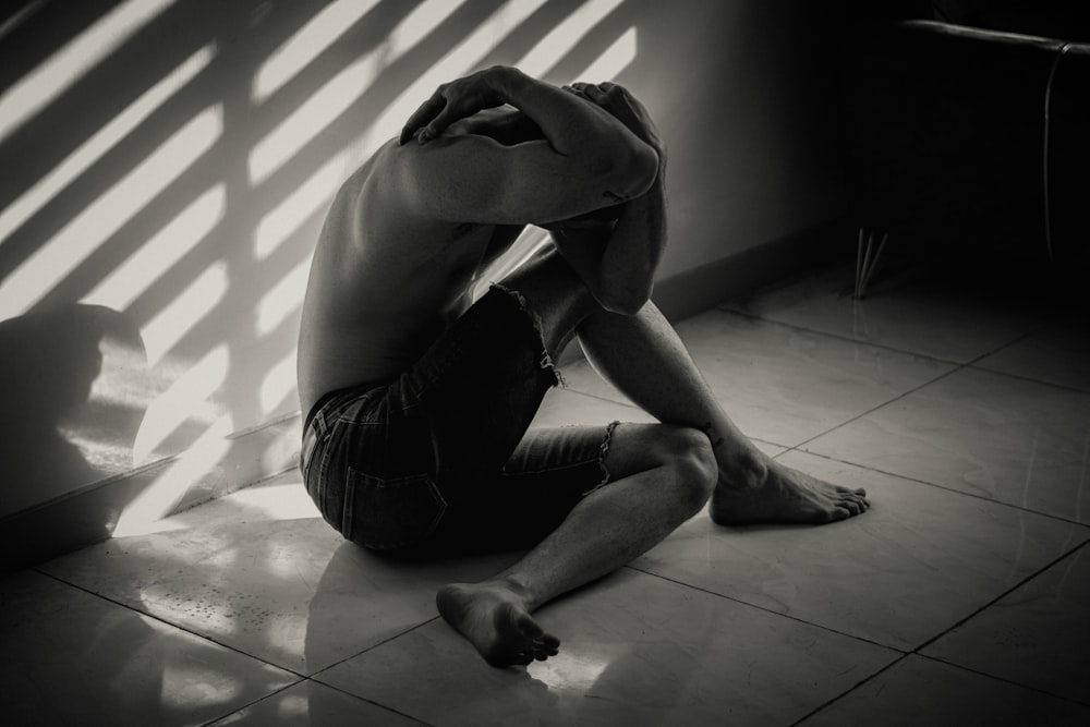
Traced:
<path id="1" fill-rule="evenodd" d="M 298 413 L 226 439 L 209 465 L 193 468 L 186 453 L 152 462 L 0 519 L 0 572 L 25 568 L 100 543 L 114 533 L 126 506 L 164 477 L 192 470 L 166 513 L 180 512 L 296 467 Z M 177 478 L 177 477 L 175 477 Z"/>

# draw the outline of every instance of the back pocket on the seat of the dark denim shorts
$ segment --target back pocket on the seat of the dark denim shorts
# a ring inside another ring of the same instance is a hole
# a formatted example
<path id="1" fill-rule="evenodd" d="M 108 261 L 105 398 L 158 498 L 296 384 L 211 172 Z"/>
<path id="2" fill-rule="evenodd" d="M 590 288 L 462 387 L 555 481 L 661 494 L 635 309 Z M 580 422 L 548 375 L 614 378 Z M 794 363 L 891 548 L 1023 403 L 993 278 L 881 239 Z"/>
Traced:
<path id="1" fill-rule="evenodd" d="M 428 474 L 377 477 L 349 467 L 346 484 L 341 533 L 376 550 L 420 544 L 447 509 Z"/>

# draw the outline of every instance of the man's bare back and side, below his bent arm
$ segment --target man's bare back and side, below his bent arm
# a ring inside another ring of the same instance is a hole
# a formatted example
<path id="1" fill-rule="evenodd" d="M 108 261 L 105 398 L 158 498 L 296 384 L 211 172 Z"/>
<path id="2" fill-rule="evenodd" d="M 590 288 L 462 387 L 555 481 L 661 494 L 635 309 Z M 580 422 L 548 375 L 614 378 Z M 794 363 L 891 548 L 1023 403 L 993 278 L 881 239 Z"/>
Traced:
<path id="1" fill-rule="evenodd" d="M 496 227 L 391 209 L 385 178 L 398 155 L 414 150 L 385 145 L 334 199 L 303 307 L 303 411 L 328 391 L 397 376 L 467 305 Z"/>

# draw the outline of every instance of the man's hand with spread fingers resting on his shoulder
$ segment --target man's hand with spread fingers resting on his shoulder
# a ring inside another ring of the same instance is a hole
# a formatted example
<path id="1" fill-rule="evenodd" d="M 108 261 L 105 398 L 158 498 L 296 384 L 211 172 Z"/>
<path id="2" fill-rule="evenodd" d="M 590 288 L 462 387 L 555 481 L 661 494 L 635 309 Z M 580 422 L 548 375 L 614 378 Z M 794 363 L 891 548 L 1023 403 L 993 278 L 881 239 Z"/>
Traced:
<path id="1" fill-rule="evenodd" d="M 504 82 L 518 72 L 512 68 L 494 65 L 443 84 L 409 117 L 399 143 L 404 144 L 420 130 L 416 141 L 426 144 L 459 119 L 471 117 L 482 109 L 502 106 L 508 100 L 502 92 Z"/>

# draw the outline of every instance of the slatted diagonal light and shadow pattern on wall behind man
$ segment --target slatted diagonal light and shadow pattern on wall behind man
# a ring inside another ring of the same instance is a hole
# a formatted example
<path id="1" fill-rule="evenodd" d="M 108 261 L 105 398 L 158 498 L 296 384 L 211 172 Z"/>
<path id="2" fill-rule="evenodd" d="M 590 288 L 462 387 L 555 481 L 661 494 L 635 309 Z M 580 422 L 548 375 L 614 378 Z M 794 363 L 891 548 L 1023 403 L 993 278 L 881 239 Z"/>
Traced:
<path id="1" fill-rule="evenodd" d="M 13 341 L 38 343 L 4 364 L 4 426 L 25 431 L 3 451 L 25 463 L 5 472 L 0 517 L 195 448 L 215 468 L 229 448 L 211 443 L 294 416 L 299 312 L 340 182 L 436 85 L 476 68 L 625 80 L 633 5 L 33 0 L 4 11 L 0 320 Z M 19 346 L 5 342 L 5 356 Z M 21 386 L 32 368 L 35 384 Z M 190 485 L 173 477 L 158 514 Z"/>

